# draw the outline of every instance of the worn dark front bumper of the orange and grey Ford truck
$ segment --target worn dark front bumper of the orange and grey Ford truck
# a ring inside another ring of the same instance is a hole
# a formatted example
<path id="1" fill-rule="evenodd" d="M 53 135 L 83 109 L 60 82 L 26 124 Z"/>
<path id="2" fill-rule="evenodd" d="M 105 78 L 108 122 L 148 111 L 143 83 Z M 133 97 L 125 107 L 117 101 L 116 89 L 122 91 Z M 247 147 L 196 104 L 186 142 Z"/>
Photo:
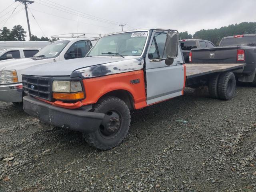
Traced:
<path id="1" fill-rule="evenodd" d="M 23 108 L 26 113 L 46 124 L 86 133 L 98 130 L 105 116 L 102 113 L 56 107 L 32 96 L 23 98 Z"/>

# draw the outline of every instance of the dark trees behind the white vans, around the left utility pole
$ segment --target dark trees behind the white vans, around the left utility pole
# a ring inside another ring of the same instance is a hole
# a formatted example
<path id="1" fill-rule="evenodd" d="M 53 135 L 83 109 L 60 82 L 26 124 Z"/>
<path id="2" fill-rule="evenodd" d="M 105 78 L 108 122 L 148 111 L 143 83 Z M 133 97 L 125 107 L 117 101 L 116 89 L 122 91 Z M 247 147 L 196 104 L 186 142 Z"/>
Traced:
<path id="1" fill-rule="evenodd" d="M 7 27 L 3 27 L 0 29 L 0 41 L 25 41 L 26 31 L 22 28 L 21 25 L 15 25 L 12 30 L 8 29 Z M 50 41 L 54 42 L 59 40 L 59 38 L 48 38 L 42 36 L 38 38 L 36 35 L 31 34 L 32 41 Z"/>

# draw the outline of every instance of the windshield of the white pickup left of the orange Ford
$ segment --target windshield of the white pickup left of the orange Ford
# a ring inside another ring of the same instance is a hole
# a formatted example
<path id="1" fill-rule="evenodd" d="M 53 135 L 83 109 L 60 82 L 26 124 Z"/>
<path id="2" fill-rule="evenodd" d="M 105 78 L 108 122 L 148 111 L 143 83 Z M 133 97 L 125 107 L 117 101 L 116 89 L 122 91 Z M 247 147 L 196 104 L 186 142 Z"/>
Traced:
<path id="1" fill-rule="evenodd" d="M 47 57 L 47 58 L 53 58 L 56 57 L 62 52 L 62 50 L 66 47 L 66 45 L 70 41 L 56 41 L 52 42 L 50 45 L 44 47 L 42 50 L 40 50 L 37 54 L 35 54 L 35 57 Z"/>

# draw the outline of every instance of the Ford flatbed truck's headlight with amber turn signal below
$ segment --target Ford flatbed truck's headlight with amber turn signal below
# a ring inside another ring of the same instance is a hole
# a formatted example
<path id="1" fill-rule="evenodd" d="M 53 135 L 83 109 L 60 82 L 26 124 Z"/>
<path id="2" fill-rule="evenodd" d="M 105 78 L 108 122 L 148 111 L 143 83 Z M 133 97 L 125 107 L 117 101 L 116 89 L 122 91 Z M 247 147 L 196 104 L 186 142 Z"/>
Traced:
<path id="1" fill-rule="evenodd" d="M 53 98 L 59 100 L 80 100 L 84 92 L 80 81 L 53 81 Z"/>

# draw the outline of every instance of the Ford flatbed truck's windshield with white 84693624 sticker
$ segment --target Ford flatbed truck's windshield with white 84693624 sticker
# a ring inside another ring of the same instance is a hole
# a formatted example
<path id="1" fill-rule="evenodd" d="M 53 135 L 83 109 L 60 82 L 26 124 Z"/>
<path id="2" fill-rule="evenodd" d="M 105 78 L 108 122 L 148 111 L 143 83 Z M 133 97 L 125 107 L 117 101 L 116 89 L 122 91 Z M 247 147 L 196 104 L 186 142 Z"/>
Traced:
<path id="1" fill-rule="evenodd" d="M 102 37 L 87 56 L 140 56 L 148 32 L 127 32 Z"/>

